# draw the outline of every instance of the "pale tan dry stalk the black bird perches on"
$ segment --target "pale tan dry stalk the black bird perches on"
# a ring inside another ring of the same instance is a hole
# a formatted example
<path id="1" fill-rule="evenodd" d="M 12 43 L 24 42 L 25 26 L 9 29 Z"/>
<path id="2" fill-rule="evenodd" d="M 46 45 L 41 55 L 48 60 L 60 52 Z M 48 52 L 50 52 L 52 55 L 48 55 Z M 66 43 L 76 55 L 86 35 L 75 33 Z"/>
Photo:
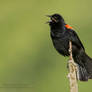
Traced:
<path id="1" fill-rule="evenodd" d="M 76 78 L 76 71 L 77 67 L 74 63 L 73 57 L 72 57 L 72 42 L 69 42 L 69 53 L 70 53 L 70 59 L 68 61 L 69 66 L 69 82 L 70 82 L 70 92 L 78 92 L 78 84 L 77 84 L 77 78 Z"/>

